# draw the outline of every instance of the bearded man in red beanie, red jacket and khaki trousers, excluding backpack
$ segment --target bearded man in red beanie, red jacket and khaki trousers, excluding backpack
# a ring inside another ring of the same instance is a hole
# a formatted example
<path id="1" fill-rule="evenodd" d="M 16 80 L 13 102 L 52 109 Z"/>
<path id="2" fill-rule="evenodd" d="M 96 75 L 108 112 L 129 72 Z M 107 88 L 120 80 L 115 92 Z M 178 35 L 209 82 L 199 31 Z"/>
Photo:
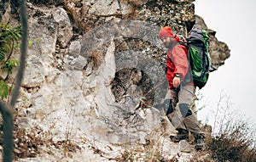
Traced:
<path id="1" fill-rule="evenodd" d="M 180 140 L 189 141 L 189 132 L 195 137 L 195 148 L 201 149 L 204 145 L 204 136 L 199 122 L 190 109 L 190 103 L 195 96 L 195 84 L 191 81 L 183 82 L 185 76 L 191 72 L 187 58 L 187 48 L 182 44 L 179 36 L 172 33 L 169 26 L 159 31 L 160 40 L 167 50 L 166 78 L 169 83 L 168 98 L 169 107 L 166 111 L 172 126 L 177 130 L 176 136 L 170 136 L 173 142 Z"/>

